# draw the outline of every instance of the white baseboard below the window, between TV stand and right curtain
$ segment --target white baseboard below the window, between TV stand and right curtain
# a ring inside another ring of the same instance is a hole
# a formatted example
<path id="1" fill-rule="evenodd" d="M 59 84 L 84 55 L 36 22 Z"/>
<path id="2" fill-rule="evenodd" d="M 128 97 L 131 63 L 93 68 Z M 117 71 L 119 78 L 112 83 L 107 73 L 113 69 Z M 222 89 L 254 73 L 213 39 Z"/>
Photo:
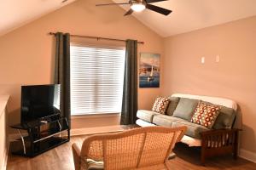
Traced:
<path id="1" fill-rule="evenodd" d="M 71 129 L 71 136 L 78 136 L 84 134 L 94 133 L 114 133 L 124 131 L 122 126 L 108 126 L 108 127 L 88 127 L 88 128 L 75 128 Z"/>

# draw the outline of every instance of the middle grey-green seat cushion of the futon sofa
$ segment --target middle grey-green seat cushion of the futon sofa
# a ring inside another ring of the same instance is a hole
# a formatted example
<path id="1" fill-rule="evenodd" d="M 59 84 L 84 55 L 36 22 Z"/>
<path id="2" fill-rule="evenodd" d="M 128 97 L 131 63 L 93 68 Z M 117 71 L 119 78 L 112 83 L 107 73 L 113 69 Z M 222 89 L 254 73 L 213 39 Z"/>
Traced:
<path id="1" fill-rule="evenodd" d="M 166 115 L 155 115 L 153 117 L 153 123 L 163 127 L 172 127 L 172 122 L 184 122 L 183 119 L 174 117 L 174 116 L 166 116 Z"/>

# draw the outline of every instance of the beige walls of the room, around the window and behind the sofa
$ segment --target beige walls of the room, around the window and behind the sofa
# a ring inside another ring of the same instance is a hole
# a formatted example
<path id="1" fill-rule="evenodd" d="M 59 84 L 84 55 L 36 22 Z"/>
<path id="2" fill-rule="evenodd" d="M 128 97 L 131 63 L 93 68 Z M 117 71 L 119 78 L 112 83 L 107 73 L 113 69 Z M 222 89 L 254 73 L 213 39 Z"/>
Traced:
<path id="1" fill-rule="evenodd" d="M 256 151 L 256 17 L 168 37 L 163 43 L 164 38 L 132 16 L 123 17 L 122 8 L 96 8 L 94 2 L 79 0 L 0 37 L 0 94 L 11 95 L 9 124 L 20 121 L 21 84 L 52 82 L 55 44 L 49 31 L 133 38 L 145 42 L 138 46 L 139 52 L 161 54 L 164 68 L 161 88 L 139 89 L 139 108 L 150 109 L 160 93 L 235 99 L 243 114 L 241 147 Z M 203 65 L 201 57 L 206 58 Z M 73 119 L 73 128 L 118 123 L 119 116 L 90 116 Z"/>

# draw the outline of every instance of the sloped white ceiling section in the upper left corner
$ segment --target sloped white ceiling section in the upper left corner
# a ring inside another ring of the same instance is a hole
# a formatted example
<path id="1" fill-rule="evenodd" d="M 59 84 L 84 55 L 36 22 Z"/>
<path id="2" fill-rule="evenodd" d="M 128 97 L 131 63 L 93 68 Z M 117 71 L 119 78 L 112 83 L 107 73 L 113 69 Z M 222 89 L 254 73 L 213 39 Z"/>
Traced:
<path id="1" fill-rule="evenodd" d="M 0 0 L 0 36 L 74 0 Z"/>

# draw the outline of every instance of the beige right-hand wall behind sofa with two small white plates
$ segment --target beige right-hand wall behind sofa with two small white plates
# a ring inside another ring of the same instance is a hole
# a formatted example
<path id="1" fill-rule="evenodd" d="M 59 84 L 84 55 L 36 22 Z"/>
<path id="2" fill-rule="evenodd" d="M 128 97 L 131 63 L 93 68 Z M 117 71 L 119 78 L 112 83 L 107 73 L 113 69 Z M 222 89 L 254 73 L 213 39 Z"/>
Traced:
<path id="1" fill-rule="evenodd" d="M 256 17 L 165 39 L 161 94 L 188 93 L 236 100 L 241 148 L 256 152 Z M 220 62 L 215 62 L 216 55 Z M 201 64 L 205 57 L 205 64 Z"/>

